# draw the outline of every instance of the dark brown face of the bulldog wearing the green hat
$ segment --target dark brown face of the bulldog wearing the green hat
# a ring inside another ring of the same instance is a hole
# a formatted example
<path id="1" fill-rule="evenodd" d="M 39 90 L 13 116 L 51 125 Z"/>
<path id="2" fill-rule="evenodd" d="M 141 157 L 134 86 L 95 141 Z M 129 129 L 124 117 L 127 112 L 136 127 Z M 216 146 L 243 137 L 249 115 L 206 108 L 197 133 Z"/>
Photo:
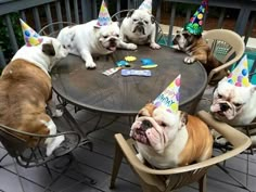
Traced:
<path id="1" fill-rule="evenodd" d="M 201 38 L 201 36 L 192 35 L 188 30 L 178 30 L 172 42 L 174 44 L 177 44 L 180 50 L 187 52 L 190 46 L 199 38 Z"/>

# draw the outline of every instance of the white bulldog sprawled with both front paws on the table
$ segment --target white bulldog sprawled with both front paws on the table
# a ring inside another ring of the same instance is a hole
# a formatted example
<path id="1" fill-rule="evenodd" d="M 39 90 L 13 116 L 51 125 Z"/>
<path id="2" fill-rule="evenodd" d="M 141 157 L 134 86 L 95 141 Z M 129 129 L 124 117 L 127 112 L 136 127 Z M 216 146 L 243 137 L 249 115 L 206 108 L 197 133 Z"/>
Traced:
<path id="1" fill-rule="evenodd" d="M 67 26 L 57 36 L 69 53 L 81 56 L 87 68 L 95 68 L 97 66 L 92 55 L 110 54 L 117 48 L 137 49 L 136 44 L 120 40 L 120 29 L 117 22 L 106 26 L 99 26 L 97 22 L 93 20 L 86 24 Z"/>

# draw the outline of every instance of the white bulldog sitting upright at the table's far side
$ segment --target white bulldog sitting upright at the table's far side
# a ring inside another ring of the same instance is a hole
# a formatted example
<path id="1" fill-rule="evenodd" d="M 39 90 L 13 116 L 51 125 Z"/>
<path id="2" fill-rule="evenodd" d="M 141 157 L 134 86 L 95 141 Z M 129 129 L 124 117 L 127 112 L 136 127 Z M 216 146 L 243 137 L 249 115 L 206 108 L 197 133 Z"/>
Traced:
<path id="1" fill-rule="evenodd" d="M 120 38 L 125 42 L 150 44 L 152 49 L 159 49 L 155 42 L 155 17 L 146 10 L 130 10 L 120 25 Z"/>

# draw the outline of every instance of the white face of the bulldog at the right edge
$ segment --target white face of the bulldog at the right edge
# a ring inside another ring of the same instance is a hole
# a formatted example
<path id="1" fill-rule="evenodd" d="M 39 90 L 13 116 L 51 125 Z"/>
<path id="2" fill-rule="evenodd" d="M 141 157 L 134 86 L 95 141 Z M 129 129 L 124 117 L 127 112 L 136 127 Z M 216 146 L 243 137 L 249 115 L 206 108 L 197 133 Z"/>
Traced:
<path id="1" fill-rule="evenodd" d="M 254 92 L 255 88 L 236 87 L 229 84 L 225 77 L 214 91 L 210 112 L 220 120 L 233 120 L 251 105 Z"/>

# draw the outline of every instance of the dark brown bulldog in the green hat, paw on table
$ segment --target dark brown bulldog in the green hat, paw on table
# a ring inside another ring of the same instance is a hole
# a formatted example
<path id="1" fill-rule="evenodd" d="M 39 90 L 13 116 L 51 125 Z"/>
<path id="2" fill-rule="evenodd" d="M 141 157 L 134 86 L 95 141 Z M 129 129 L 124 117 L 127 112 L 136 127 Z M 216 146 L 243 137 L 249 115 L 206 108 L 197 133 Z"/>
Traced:
<path id="1" fill-rule="evenodd" d="M 212 53 L 210 48 L 202 38 L 202 35 L 193 35 L 188 30 L 178 30 L 172 39 L 174 46 L 177 46 L 179 50 L 185 52 L 189 56 L 184 57 L 184 63 L 192 64 L 199 61 L 205 67 L 207 74 L 212 69 L 222 65 Z M 210 85 L 216 85 L 225 76 L 228 75 L 227 69 L 220 71 L 210 80 Z"/>

